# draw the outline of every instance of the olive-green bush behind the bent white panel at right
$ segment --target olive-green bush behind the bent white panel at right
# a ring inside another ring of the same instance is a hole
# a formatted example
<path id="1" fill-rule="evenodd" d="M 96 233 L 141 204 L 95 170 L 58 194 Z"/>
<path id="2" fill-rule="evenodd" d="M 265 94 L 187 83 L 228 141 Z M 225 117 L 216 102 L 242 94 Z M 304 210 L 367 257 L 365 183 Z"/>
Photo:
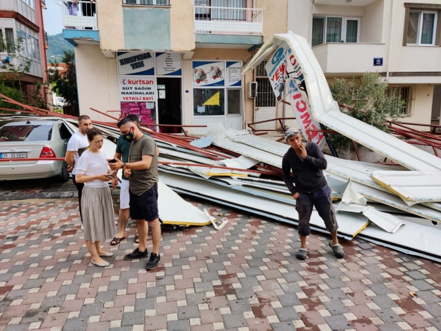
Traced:
<path id="1" fill-rule="evenodd" d="M 387 95 L 388 83 L 381 79 L 377 72 L 366 72 L 361 77 L 361 85 L 355 88 L 355 78 L 347 82 L 346 79 L 336 79 L 331 84 L 332 96 L 340 105 L 340 110 L 351 117 L 389 132 L 384 124 L 388 119 L 396 121 L 400 118 L 400 111 L 405 102 L 396 95 Z M 336 148 L 347 149 L 351 140 L 340 134 L 330 134 L 329 138 Z"/>

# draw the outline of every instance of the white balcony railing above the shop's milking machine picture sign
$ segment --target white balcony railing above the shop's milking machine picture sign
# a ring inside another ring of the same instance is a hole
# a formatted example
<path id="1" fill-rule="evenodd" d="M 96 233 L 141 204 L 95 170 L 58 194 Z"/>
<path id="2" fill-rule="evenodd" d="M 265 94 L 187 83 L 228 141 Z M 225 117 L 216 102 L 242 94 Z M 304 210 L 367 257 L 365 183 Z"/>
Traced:
<path id="1" fill-rule="evenodd" d="M 194 32 L 262 34 L 265 8 L 194 6 Z"/>

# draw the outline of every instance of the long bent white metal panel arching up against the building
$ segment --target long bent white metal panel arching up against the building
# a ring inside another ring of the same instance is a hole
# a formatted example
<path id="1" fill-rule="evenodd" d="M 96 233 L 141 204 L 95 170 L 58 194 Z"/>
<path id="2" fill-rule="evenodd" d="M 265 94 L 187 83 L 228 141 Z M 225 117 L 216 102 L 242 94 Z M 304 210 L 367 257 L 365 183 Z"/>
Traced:
<path id="1" fill-rule="evenodd" d="M 289 45 L 302 68 L 314 119 L 329 129 L 340 132 L 363 146 L 404 165 L 406 168 L 411 170 L 441 170 L 440 158 L 340 112 L 338 104 L 332 98 L 325 75 L 314 52 L 311 50 L 311 46 L 305 38 L 297 34 L 292 32 L 274 34 L 265 41 L 256 55 L 247 63 L 243 68 L 243 72 L 257 66 L 282 43 Z"/>

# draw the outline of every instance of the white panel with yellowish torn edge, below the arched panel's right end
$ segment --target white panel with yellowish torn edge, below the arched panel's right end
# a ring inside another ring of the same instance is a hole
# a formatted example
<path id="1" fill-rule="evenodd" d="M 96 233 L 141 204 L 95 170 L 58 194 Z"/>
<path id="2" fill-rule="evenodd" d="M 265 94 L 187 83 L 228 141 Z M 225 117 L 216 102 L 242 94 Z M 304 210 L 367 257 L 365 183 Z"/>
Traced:
<path id="1" fill-rule="evenodd" d="M 440 171 L 376 171 L 372 178 L 405 202 L 441 201 Z"/>

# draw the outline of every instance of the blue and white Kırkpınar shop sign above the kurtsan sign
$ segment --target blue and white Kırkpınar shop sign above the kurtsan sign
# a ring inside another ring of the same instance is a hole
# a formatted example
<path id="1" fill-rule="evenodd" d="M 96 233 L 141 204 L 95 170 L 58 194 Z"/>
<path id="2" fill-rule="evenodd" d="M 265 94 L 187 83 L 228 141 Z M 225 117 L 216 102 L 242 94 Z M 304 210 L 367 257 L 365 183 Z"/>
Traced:
<path id="1" fill-rule="evenodd" d="M 118 74 L 154 75 L 152 52 L 119 52 L 116 56 Z"/>

